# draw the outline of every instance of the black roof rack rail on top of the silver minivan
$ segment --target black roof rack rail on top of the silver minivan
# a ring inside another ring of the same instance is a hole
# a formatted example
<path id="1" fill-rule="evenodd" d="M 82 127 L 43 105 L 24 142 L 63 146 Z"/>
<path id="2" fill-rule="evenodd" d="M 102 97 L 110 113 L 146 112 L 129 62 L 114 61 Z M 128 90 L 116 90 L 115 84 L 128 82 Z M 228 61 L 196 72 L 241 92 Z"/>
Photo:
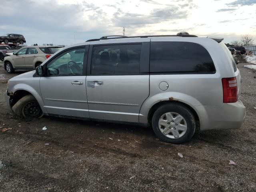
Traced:
<path id="1" fill-rule="evenodd" d="M 198 37 L 196 35 L 184 35 L 184 34 L 178 34 L 178 35 L 146 35 L 146 36 L 121 36 L 121 35 L 111 35 L 111 36 L 103 36 L 99 39 L 89 39 L 86 42 L 89 41 L 99 41 L 99 40 L 106 40 L 106 39 L 120 39 L 120 38 L 148 38 L 148 37 Z M 112 38 L 108 38 L 112 37 Z"/>

